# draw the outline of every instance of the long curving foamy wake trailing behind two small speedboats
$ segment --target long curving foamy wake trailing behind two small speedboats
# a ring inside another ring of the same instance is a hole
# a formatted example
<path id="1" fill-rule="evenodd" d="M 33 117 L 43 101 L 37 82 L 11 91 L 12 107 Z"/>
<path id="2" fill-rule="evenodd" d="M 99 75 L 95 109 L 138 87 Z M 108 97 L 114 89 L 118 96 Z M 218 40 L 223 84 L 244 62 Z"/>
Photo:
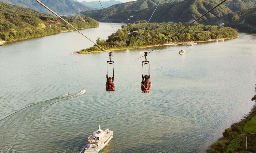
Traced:
<path id="1" fill-rule="evenodd" d="M 81 90 L 75 95 L 64 94 L 53 99 L 32 104 L 0 120 L 0 153 L 12 152 L 13 146 L 23 135 L 40 122 L 44 116 L 45 108 L 56 102 L 75 98 L 85 93 Z"/>

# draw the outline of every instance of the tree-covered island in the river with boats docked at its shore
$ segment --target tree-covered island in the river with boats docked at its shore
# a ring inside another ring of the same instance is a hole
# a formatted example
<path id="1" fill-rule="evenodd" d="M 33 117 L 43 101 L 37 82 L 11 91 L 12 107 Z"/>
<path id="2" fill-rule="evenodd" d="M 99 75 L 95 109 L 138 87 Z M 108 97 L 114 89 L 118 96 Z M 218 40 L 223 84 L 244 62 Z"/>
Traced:
<path id="1" fill-rule="evenodd" d="M 118 49 L 132 49 L 138 38 L 140 37 L 143 29 L 146 26 L 146 21 L 137 21 L 129 23 L 127 26 L 123 25 L 115 33 L 108 36 L 108 39 L 103 40 L 98 38 L 97 45 L 105 50 L 118 50 Z M 189 23 L 148 23 L 141 38 L 139 39 L 135 48 L 144 48 L 146 46 L 159 45 L 165 42 L 168 38 L 185 28 Z M 204 26 L 203 24 L 191 24 L 190 27 L 183 30 L 181 33 L 172 37 L 165 44 L 171 42 L 187 42 L 187 41 L 207 41 L 209 39 L 220 39 L 237 37 L 238 32 L 228 27 L 217 26 Z M 118 39 L 120 41 L 118 41 Z M 97 45 L 93 47 L 77 51 L 77 53 L 90 53 L 102 51 Z"/>

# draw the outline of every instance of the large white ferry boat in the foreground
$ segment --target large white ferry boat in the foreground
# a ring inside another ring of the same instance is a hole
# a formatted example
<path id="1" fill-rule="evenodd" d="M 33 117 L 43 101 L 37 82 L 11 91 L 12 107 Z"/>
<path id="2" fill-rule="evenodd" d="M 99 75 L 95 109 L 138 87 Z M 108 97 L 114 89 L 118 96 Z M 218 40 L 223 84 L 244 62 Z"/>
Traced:
<path id="1" fill-rule="evenodd" d="M 99 130 L 94 132 L 88 137 L 88 144 L 84 153 L 96 153 L 108 145 L 109 141 L 113 138 L 113 131 L 106 129 L 102 131 L 99 126 Z"/>

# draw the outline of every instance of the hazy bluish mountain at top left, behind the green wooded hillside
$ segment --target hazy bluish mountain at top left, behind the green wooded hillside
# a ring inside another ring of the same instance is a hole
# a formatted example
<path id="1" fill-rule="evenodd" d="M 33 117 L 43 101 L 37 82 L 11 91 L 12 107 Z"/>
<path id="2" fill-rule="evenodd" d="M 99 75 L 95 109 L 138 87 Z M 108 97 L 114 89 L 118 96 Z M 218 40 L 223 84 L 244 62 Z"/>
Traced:
<path id="1" fill-rule="evenodd" d="M 60 16 L 76 14 L 78 13 L 78 8 L 80 8 L 80 12 L 83 12 L 86 10 L 98 10 L 98 8 L 86 6 L 80 2 L 76 2 L 73 0 L 40 0 L 40 1 Z M 52 14 L 50 11 L 48 11 L 45 7 L 43 7 L 41 4 L 39 4 L 35 0 L 0 0 L 0 2 L 4 2 L 7 4 L 14 4 L 22 7 L 33 8 L 39 12 Z"/>

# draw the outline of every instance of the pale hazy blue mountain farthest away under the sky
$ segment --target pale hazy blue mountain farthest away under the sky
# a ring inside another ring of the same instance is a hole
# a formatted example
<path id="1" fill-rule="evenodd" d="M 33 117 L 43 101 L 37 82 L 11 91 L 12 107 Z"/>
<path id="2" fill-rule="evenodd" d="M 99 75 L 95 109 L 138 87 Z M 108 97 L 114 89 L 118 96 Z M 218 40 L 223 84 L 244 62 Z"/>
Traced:
<path id="1" fill-rule="evenodd" d="M 83 1 L 80 3 L 85 4 L 86 6 L 91 6 L 91 7 L 102 9 L 100 2 L 98 2 L 98 1 L 92 1 L 92 2 Z M 107 7 L 115 5 L 115 4 L 120 4 L 120 3 L 123 3 L 123 2 L 115 1 L 115 0 L 101 1 L 101 4 L 104 8 L 107 8 Z"/>

